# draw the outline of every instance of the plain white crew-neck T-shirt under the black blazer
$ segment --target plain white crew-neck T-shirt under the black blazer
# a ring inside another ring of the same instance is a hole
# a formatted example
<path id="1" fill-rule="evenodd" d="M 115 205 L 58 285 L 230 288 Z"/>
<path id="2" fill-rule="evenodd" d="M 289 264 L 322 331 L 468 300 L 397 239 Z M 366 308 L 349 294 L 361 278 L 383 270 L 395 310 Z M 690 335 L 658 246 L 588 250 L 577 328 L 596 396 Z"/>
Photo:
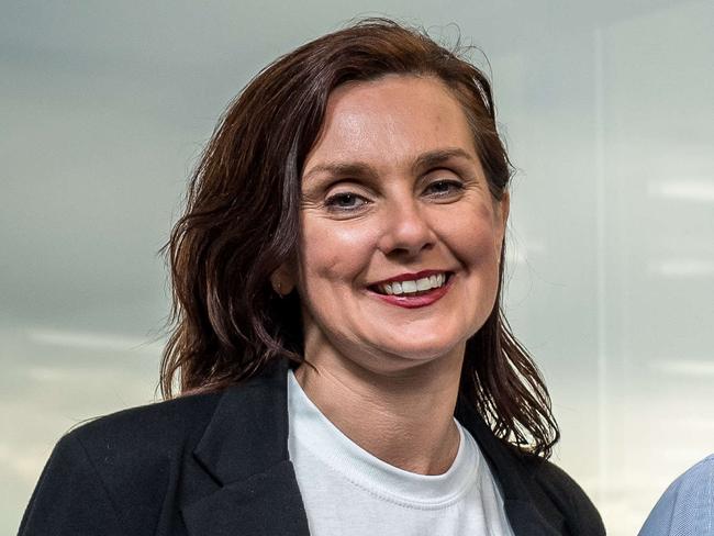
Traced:
<path id="1" fill-rule="evenodd" d="M 312 536 L 512 536 L 476 440 L 456 421 L 451 467 L 427 476 L 393 467 L 345 436 L 288 372 L 288 450 Z"/>

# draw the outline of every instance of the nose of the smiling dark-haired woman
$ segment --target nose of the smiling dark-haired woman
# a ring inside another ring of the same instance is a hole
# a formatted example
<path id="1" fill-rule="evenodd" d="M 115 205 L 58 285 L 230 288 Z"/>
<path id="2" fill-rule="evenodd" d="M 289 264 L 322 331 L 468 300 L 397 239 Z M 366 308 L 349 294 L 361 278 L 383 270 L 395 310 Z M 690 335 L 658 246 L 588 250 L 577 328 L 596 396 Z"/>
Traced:
<path id="1" fill-rule="evenodd" d="M 390 203 L 384 208 L 382 225 L 380 249 L 384 255 L 415 256 L 434 245 L 434 232 L 416 200 Z"/>

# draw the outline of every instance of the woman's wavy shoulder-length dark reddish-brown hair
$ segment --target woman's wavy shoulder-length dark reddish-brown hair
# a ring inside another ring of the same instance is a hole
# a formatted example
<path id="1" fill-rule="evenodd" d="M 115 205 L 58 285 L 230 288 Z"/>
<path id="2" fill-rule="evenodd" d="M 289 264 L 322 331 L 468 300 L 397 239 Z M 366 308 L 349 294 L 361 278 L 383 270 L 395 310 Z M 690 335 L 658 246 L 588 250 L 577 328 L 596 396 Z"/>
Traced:
<path id="1" fill-rule="evenodd" d="M 330 93 L 348 81 L 434 76 L 459 100 L 494 199 L 511 166 L 495 126 L 488 78 L 421 31 L 368 19 L 280 57 L 227 111 L 190 182 L 187 209 L 171 233 L 174 331 L 160 388 L 172 395 L 222 389 L 276 359 L 302 360 L 297 292 L 276 299 L 270 275 L 295 258 L 301 176 Z M 501 253 L 501 282 L 503 280 Z M 548 457 L 559 433 L 548 391 L 495 305 L 469 339 L 460 397 L 495 435 Z"/>

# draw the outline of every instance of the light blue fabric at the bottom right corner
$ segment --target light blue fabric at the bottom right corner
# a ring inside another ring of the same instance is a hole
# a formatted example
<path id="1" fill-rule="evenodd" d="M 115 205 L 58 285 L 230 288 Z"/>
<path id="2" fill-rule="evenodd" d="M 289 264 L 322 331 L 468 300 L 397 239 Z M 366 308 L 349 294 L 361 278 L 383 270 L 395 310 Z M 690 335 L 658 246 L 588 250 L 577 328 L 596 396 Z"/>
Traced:
<path id="1" fill-rule="evenodd" d="M 667 488 L 639 536 L 714 536 L 714 455 Z"/>

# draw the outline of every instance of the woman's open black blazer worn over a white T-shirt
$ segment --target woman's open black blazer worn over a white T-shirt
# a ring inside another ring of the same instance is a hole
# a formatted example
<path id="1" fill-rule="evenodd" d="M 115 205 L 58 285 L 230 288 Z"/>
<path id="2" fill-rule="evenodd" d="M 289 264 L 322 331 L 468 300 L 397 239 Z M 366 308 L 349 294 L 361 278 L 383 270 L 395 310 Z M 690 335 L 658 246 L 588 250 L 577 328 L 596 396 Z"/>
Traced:
<path id="1" fill-rule="evenodd" d="M 603 535 L 584 492 L 518 455 L 466 404 L 517 535 Z M 30 500 L 21 536 L 308 536 L 288 457 L 287 362 L 225 391 L 122 411 L 70 432 Z M 442 535 L 437 535 L 442 536 Z"/>

